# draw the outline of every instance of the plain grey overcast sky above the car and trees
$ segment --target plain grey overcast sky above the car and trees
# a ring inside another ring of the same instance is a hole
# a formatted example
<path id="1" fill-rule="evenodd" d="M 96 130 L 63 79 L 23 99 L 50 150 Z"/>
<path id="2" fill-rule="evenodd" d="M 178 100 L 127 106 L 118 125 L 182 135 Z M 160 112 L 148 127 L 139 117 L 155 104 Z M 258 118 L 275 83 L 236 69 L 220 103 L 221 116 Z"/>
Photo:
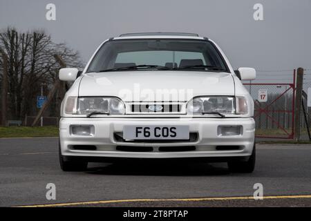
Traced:
<path id="1" fill-rule="evenodd" d="M 46 19 L 48 3 L 55 21 Z M 254 20 L 256 3 L 262 21 Z M 311 0 L 0 0 L 0 29 L 44 29 L 84 61 L 122 33 L 194 32 L 216 41 L 234 68 L 256 68 L 259 80 L 290 81 L 301 66 L 311 85 L 310 23 Z"/>

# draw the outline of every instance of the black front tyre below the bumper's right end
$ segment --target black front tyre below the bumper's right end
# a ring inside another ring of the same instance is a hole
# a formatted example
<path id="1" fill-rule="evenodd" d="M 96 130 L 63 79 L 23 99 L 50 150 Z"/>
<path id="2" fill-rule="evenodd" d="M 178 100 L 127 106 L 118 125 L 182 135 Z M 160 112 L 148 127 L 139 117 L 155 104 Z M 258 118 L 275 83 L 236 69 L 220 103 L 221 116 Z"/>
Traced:
<path id="1" fill-rule="evenodd" d="M 234 173 L 252 173 L 255 169 L 255 162 L 256 144 L 254 144 L 252 155 L 250 155 L 249 159 L 246 162 L 228 162 L 229 171 Z"/>

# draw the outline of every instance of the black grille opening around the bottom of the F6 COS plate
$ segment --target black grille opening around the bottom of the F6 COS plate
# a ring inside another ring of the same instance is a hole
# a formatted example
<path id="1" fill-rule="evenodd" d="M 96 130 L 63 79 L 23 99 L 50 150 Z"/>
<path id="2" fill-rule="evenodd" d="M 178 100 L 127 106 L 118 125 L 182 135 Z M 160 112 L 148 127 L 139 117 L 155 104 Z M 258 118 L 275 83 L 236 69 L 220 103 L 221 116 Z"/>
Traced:
<path id="1" fill-rule="evenodd" d="M 196 142 L 198 141 L 198 133 L 189 133 L 188 140 L 124 140 L 123 133 L 114 133 L 113 137 L 116 142 L 141 142 L 141 143 L 178 143 L 178 142 Z"/>

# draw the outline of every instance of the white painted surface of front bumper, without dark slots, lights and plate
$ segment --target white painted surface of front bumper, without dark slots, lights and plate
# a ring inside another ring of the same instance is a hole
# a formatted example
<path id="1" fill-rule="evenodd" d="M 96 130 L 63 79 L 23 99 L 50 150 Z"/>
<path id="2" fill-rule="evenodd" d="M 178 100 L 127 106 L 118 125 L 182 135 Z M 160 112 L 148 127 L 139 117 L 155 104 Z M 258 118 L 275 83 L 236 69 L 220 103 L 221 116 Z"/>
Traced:
<path id="1" fill-rule="evenodd" d="M 95 135 L 91 137 L 70 135 L 71 124 L 94 125 Z M 199 133 L 199 140 L 194 143 L 135 143 L 116 142 L 113 140 L 115 131 L 121 132 L 125 125 L 189 125 L 189 131 Z M 219 125 L 241 125 L 243 135 L 221 136 L 217 134 Z M 255 122 L 253 118 L 187 118 L 187 119 L 123 119 L 123 118 L 62 118 L 59 122 L 59 138 L 62 155 L 88 157 L 139 157 L 139 158 L 179 158 L 179 157 L 238 157 L 251 155 L 254 145 Z M 77 151 L 68 148 L 68 145 L 96 145 L 98 151 Z M 115 151 L 117 145 L 122 146 L 197 146 L 197 151 L 185 152 L 126 152 Z M 241 145 L 238 151 L 215 151 L 218 145 Z"/>

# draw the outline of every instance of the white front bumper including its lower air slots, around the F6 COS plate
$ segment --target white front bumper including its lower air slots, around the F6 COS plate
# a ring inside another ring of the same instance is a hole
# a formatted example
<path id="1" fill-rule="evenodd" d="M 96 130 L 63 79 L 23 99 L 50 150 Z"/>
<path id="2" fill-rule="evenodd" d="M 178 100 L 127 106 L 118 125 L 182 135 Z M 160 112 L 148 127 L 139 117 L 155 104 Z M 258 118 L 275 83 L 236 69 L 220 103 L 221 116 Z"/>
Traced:
<path id="1" fill-rule="evenodd" d="M 89 136 L 72 135 L 70 131 L 70 126 L 72 125 L 91 125 L 94 129 L 93 134 Z M 189 125 L 189 132 L 196 134 L 196 137 L 194 140 L 169 142 L 131 142 L 116 139 L 115 134 L 122 134 L 124 125 Z M 218 126 L 241 126 L 241 135 L 220 135 Z M 64 157 L 89 157 L 90 159 L 92 157 L 115 159 L 178 159 L 197 157 L 226 159 L 227 157 L 248 157 L 252 154 L 254 133 L 255 122 L 253 118 L 148 119 L 62 117 L 59 121 L 59 142 L 62 155 Z M 75 148 L 77 146 L 82 147 L 82 149 Z M 94 146 L 95 149 L 83 149 L 84 146 Z M 120 147 L 122 147 L 121 150 Z M 138 149 L 133 151 L 133 147 Z M 167 147 L 169 147 L 169 150 L 165 151 Z M 176 149 L 174 150 L 174 148 Z"/>

